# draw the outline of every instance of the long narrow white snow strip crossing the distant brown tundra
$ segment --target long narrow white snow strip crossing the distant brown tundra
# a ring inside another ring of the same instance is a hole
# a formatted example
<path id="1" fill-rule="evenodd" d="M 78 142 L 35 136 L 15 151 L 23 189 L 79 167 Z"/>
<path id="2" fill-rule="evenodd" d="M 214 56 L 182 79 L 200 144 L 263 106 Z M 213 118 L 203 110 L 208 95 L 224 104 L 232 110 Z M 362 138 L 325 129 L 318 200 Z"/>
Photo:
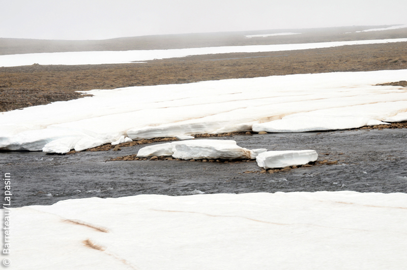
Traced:
<path id="1" fill-rule="evenodd" d="M 305 50 L 315 48 L 329 48 L 356 44 L 377 44 L 389 42 L 407 42 L 407 39 L 336 41 L 305 44 L 278 44 L 278 45 L 249 45 L 224 46 L 206 48 L 168 49 L 168 50 L 132 50 L 132 51 L 80 51 L 80 52 L 53 52 L 53 53 L 26 53 L 0 55 L 0 67 L 27 66 L 35 63 L 40 65 L 100 65 L 122 64 L 185 57 L 188 55 L 203 55 L 232 52 L 266 52 Z"/>

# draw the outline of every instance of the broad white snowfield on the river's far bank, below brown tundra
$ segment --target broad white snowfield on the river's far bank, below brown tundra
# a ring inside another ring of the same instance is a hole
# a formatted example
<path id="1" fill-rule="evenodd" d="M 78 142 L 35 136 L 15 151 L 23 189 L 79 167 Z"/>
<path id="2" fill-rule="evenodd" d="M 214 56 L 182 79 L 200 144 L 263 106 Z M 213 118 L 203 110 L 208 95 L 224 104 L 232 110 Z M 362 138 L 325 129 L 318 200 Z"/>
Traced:
<path id="1" fill-rule="evenodd" d="M 0 149 L 67 153 L 104 143 L 243 131 L 336 130 L 407 120 L 407 70 L 297 74 L 93 90 L 0 113 Z M 124 136 L 124 137 L 122 137 Z"/>

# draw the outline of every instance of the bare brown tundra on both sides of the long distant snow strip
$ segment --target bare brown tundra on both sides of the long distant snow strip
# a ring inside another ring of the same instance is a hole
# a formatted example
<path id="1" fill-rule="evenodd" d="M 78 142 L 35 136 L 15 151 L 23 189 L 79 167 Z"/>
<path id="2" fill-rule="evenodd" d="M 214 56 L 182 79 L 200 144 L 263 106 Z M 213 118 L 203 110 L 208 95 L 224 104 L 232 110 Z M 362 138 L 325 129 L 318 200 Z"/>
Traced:
<path id="1" fill-rule="evenodd" d="M 407 38 L 407 28 L 292 29 L 292 36 L 245 38 L 273 31 L 146 36 L 102 41 L 0 39 L 0 55 L 33 52 L 170 49 Z M 278 31 L 274 31 L 278 32 Z M 344 34 L 352 32 L 351 34 Z M 0 67 L 0 111 L 83 97 L 75 91 L 323 72 L 407 69 L 407 42 L 258 53 L 225 53 L 114 65 Z"/>

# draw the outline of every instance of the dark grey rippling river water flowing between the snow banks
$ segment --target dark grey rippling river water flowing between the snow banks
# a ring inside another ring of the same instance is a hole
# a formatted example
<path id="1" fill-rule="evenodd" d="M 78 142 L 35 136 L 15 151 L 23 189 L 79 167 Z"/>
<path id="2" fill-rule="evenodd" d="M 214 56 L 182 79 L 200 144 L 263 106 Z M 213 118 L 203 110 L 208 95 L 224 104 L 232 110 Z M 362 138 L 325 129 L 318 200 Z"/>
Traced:
<path id="1" fill-rule="evenodd" d="M 203 192 L 323 190 L 407 193 L 407 129 L 256 134 L 221 139 L 236 140 L 238 145 L 249 149 L 314 149 L 318 160 L 339 162 L 273 174 L 243 173 L 259 171 L 256 162 L 105 162 L 112 157 L 136 154 L 139 148 L 147 146 L 138 145 L 123 147 L 120 152 L 82 152 L 67 156 L 3 152 L 0 153 L 0 172 L 2 176 L 11 173 L 12 207 L 138 194 L 179 196 Z"/>

